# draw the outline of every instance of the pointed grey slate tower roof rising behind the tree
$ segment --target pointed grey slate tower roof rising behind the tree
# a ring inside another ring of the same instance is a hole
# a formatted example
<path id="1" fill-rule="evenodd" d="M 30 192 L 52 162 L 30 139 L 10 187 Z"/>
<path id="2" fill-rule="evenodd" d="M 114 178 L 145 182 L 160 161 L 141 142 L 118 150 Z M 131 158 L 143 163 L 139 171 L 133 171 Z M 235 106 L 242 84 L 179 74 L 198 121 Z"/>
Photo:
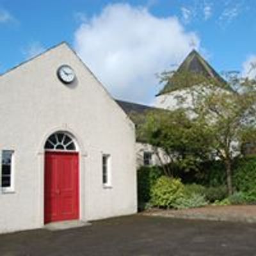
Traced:
<path id="1" fill-rule="evenodd" d="M 179 66 L 174 76 L 177 74 L 182 74 L 186 72 L 198 73 L 203 75 L 204 77 L 209 77 L 209 79 L 214 79 L 217 83 L 220 84 L 221 87 L 226 88 L 227 90 L 232 90 L 227 82 L 218 74 L 214 68 L 209 65 L 209 63 L 202 58 L 202 56 L 196 51 L 191 51 L 186 59 Z M 169 81 L 165 84 L 164 88 L 156 95 L 162 95 L 164 93 L 173 92 L 174 90 L 179 90 L 177 86 L 173 86 L 173 77 L 169 79 Z"/>

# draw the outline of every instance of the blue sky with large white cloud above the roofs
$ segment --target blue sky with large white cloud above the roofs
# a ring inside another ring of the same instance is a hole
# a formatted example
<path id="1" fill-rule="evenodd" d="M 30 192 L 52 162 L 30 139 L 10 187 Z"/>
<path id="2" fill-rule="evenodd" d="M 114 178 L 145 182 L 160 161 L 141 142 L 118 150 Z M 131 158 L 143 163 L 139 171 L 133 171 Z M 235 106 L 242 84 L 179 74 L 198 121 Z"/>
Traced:
<path id="1" fill-rule="evenodd" d="M 67 41 L 120 99 L 152 104 L 155 74 L 195 47 L 217 71 L 256 61 L 254 0 L 0 0 L 0 73 Z"/>

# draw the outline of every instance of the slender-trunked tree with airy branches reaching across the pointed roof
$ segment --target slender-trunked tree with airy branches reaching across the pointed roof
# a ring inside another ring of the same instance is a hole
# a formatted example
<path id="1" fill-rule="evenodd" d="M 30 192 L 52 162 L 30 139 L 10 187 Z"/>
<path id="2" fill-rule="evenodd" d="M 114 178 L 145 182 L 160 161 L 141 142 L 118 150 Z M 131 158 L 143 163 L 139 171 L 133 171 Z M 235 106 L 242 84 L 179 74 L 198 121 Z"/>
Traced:
<path id="1" fill-rule="evenodd" d="M 256 83 L 254 79 L 239 79 L 234 72 L 227 75 L 225 84 L 189 72 L 174 74 L 171 80 L 173 85 L 179 84 L 179 88 L 186 89 L 184 100 L 189 98 L 191 106 L 184 111 L 189 113 L 192 125 L 204 127 L 201 131 L 207 136 L 207 147 L 225 163 L 227 188 L 231 195 L 234 159 L 242 156 L 244 143 L 256 141 Z M 168 81 L 168 77 L 164 79 Z"/>

